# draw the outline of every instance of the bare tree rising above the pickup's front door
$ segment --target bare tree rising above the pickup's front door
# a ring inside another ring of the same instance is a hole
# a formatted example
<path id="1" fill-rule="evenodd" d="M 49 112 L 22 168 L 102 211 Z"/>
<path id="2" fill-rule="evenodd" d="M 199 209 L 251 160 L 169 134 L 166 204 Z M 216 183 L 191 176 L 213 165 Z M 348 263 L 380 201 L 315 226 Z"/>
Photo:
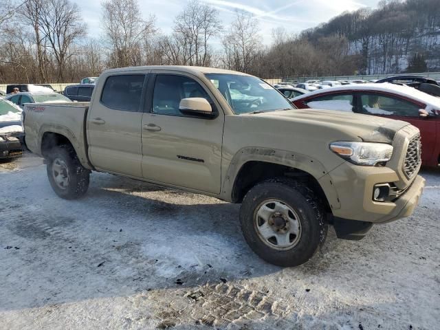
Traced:
<path id="1" fill-rule="evenodd" d="M 219 12 L 212 6 L 198 0 L 190 0 L 177 15 L 174 38 L 183 47 L 183 63 L 187 65 L 208 65 L 210 47 L 208 42 L 222 30 Z"/>

